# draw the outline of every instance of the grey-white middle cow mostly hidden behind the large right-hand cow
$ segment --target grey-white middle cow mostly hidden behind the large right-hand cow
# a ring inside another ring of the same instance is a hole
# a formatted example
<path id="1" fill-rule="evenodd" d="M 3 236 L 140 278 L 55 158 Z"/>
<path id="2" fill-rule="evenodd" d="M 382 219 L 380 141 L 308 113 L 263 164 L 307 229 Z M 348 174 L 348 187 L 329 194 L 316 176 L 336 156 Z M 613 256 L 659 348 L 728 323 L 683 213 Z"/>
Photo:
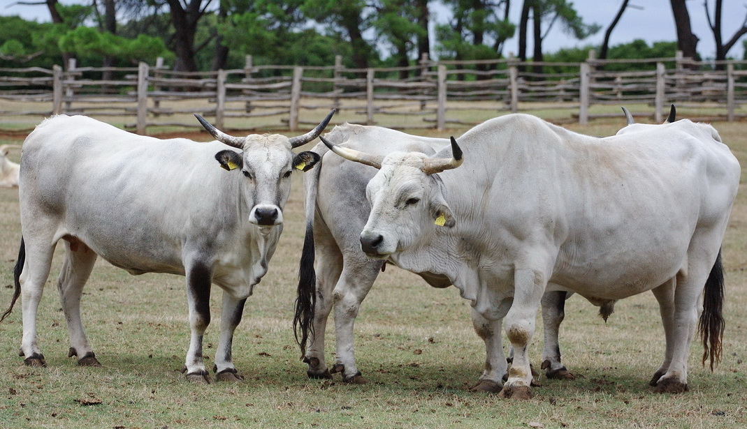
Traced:
<path id="1" fill-rule="evenodd" d="M 418 151 L 433 155 L 449 146 L 449 140 L 418 137 L 388 128 L 365 125 L 338 125 L 325 138 L 347 148 L 368 150 L 386 155 L 393 151 Z M 359 371 L 353 344 L 353 326 L 362 301 L 371 290 L 385 261 L 366 257 L 361 249 L 360 234 L 371 205 L 366 199 L 366 184 L 376 174 L 370 166 L 349 163 L 335 154 L 329 154 L 323 144 L 312 151 L 320 154 L 320 162 L 304 176 L 306 188 L 306 240 L 300 266 L 299 290 L 314 288 L 313 334 L 302 338 L 303 360 L 308 364 L 311 378 L 331 378 L 340 373 L 344 381 L 364 383 Z M 314 255 L 316 256 L 314 258 Z M 314 261 L 315 259 L 315 261 Z M 314 264 L 315 262 L 315 264 Z M 316 269 L 314 270 L 314 265 Z M 451 282 L 444 276 L 418 272 L 431 286 L 444 288 Z M 573 378 L 560 363 L 558 329 L 563 318 L 566 292 L 548 292 L 542 300 L 542 320 L 545 340 L 542 352 L 542 369 L 549 378 Z M 309 302 L 306 299 L 306 302 Z M 611 306 L 605 307 L 611 312 Z M 330 367 L 325 354 L 325 331 L 329 314 L 335 317 L 335 362 Z M 605 316 L 606 317 L 606 316 Z M 479 313 L 472 312 L 477 334 L 486 345 L 486 369 L 474 389 L 500 390 L 505 373 L 492 370 L 505 367 L 505 354 L 500 341 L 500 329 L 495 330 Z M 496 360 L 503 360 L 497 365 Z"/>

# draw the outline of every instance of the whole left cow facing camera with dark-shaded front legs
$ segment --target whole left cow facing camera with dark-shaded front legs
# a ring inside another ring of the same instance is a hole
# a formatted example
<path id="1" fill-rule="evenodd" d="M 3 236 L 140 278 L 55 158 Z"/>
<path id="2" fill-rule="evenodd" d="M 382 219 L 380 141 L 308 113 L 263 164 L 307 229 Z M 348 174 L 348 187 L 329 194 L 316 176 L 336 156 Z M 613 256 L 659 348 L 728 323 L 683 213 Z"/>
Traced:
<path id="1" fill-rule="evenodd" d="M 23 146 L 16 289 L 2 316 L 20 295 L 20 355 L 26 365 L 46 365 L 37 345 L 37 307 L 62 240 L 58 289 L 69 356 L 78 357 L 78 364 L 99 366 L 84 333 L 80 301 L 101 256 L 133 275 L 186 277 L 191 335 L 185 372 L 197 383 L 211 381 L 202 337 L 210 323 L 211 285 L 220 286 L 214 372 L 219 380 L 241 380 L 231 353 L 235 328 L 282 232 L 294 165 L 310 169 L 318 160 L 316 154 L 294 155 L 291 149 L 314 140 L 334 112 L 314 130 L 290 139 L 232 137 L 197 116 L 217 139 L 208 143 L 137 136 L 85 116 L 53 116 L 37 125 Z"/>

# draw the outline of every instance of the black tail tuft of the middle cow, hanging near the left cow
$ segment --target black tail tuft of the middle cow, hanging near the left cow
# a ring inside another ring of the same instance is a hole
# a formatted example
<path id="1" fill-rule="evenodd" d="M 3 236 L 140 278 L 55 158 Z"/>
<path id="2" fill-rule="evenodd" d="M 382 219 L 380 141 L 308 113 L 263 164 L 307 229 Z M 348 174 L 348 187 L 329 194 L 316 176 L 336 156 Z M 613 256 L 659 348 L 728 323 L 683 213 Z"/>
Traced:
<path id="1" fill-rule="evenodd" d="M 301 358 L 306 355 L 306 342 L 314 334 L 314 307 L 317 303 L 317 275 L 314 272 L 314 226 L 313 221 L 306 224 L 306 236 L 303 239 L 301 262 L 298 268 L 298 297 L 296 313 L 293 316 L 293 334 L 301 348 Z M 299 338 L 300 336 L 300 338 Z"/>

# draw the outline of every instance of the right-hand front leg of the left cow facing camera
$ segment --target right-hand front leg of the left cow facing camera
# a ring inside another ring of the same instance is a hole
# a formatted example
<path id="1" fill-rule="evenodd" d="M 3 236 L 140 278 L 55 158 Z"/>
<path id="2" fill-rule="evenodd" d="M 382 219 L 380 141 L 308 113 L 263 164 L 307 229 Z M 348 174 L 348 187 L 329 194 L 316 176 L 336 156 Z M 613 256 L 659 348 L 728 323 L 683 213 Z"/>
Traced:
<path id="1" fill-rule="evenodd" d="M 232 358 L 233 336 L 241 316 L 244 314 L 244 304 L 247 298 L 234 298 L 229 292 L 223 291 L 223 311 L 220 313 L 220 339 L 215 352 L 213 370 L 219 381 L 244 381 L 238 375 Z"/>

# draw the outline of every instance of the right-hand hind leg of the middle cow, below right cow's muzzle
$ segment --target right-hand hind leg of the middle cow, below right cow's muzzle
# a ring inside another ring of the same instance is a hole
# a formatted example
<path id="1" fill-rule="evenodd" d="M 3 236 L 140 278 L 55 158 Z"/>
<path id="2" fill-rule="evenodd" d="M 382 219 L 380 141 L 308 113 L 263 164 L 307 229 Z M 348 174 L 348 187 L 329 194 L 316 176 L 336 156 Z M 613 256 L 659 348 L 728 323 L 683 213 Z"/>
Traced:
<path id="1" fill-rule="evenodd" d="M 335 338 L 337 339 L 337 357 L 332 373 L 340 372 L 343 381 L 349 383 L 366 383 L 356 366 L 355 349 L 353 346 L 353 329 L 361 303 L 371 291 L 373 281 L 381 269 L 380 261 L 367 263 L 360 269 L 343 270 L 340 280 L 335 286 Z"/>

